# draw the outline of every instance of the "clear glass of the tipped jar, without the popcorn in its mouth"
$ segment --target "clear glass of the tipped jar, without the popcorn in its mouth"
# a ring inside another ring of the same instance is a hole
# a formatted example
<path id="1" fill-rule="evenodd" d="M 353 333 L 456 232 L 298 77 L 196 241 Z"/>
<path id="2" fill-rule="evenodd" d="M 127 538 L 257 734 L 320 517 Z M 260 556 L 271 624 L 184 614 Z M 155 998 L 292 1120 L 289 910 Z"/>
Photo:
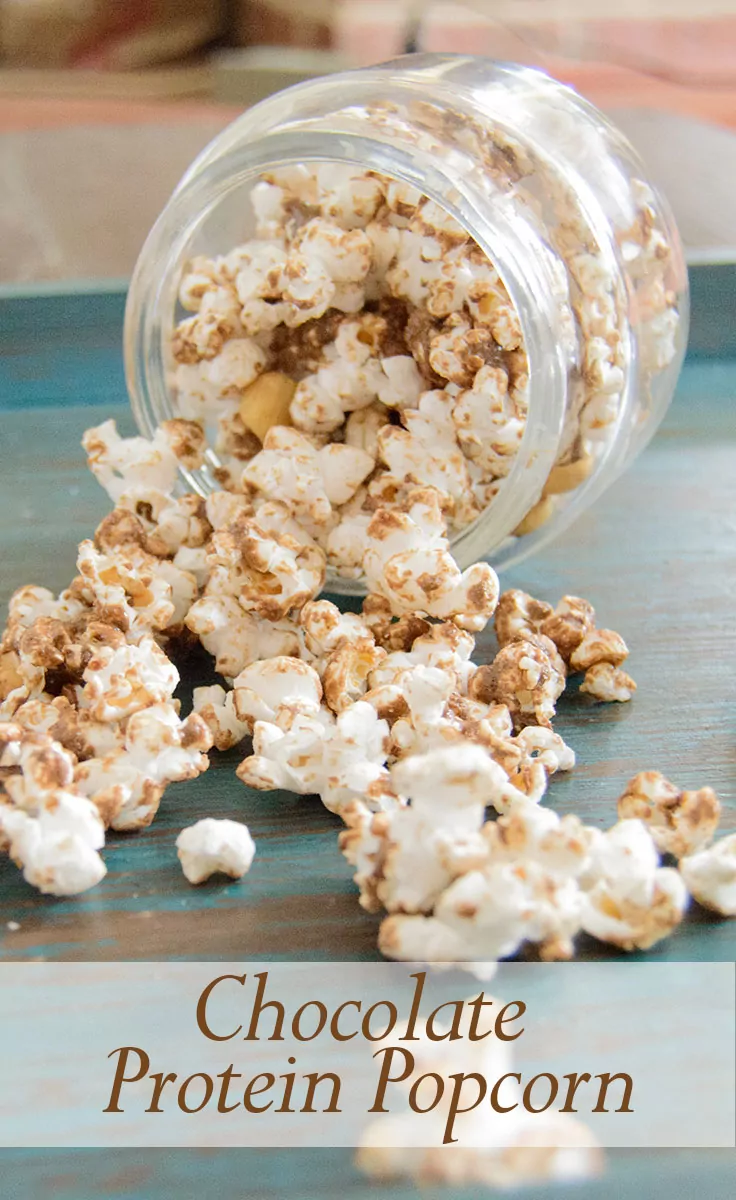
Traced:
<path id="1" fill-rule="evenodd" d="M 176 415 L 172 337 L 185 264 L 252 233 L 257 180 L 325 163 L 429 197 L 510 298 L 528 371 L 523 436 L 490 503 L 451 541 L 462 568 L 517 562 L 600 496 L 671 400 L 688 293 L 670 210 L 616 127 L 539 71 L 427 54 L 299 84 L 215 138 L 145 242 L 125 330 L 142 432 Z M 189 486 L 209 492 L 216 468 L 210 451 L 201 470 L 185 472 Z M 360 590 L 354 578 L 329 586 Z"/>

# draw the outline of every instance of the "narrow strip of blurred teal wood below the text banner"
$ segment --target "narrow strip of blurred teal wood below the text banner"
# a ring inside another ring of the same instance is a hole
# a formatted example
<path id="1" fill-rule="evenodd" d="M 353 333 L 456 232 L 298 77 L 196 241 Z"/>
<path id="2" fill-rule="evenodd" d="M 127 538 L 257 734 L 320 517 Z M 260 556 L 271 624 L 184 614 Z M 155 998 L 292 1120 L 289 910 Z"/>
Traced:
<path id="1" fill-rule="evenodd" d="M 731 1151 L 611 1151 L 606 1174 L 561 1188 L 503 1192 L 509 1200 L 732 1200 Z M 480 1200 L 478 1188 L 361 1178 L 348 1151 L 2 1151 L 4 1200 Z"/>

